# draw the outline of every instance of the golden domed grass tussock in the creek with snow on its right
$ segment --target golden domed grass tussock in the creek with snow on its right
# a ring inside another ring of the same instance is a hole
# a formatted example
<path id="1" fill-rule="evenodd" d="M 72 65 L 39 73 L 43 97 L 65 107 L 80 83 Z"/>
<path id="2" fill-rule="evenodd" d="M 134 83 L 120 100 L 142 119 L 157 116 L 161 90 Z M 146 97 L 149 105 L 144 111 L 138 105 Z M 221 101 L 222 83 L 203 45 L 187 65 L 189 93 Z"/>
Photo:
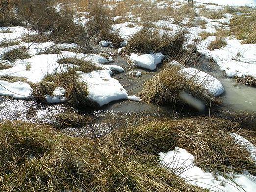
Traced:
<path id="1" fill-rule="evenodd" d="M 186 103 L 182 98 L 182 93 L 185 92 L 204 103 L 215 102 L 214 97 L 210 96 L 202 85 L 196 84 L 192 78 L 187 79 L 179 70 L 179 67 L 167 65 L 163 71 L 147 81 L 139 93 L 142 101 L 155 104 L 183 104 Z"/>

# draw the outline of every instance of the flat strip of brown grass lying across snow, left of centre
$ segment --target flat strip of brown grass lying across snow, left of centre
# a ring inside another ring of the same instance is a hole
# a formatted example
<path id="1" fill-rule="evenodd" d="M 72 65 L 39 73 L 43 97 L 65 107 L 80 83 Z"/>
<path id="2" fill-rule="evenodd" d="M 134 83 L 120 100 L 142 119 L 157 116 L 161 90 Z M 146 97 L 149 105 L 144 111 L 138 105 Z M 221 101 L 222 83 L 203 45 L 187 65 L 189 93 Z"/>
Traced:
<path id="1" fill-rule="evenodd" d="M 58 60 L 58 63 L 70 63 L 73 65 L 80 66 L 77 68 L 78 71 L 82 71 L 84 73 L 89 73 L 94 70 L 102 70 L 101 67 L 96 66 L 95 64 L 92 64 L 90 61 L 84 61 L 82 59 L 76 59 L 76 58 L 63 58 Z"/>

